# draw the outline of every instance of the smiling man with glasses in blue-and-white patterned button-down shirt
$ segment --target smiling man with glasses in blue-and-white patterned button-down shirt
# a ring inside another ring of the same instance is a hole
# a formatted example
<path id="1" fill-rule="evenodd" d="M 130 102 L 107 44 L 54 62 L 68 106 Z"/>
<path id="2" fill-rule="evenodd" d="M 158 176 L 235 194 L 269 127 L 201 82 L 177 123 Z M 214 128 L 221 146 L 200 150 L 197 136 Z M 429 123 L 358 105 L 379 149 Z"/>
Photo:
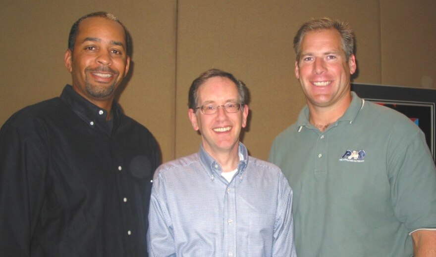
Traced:
<path id="1" fill-rule="evenodd" d="M 202 144 L 155 173 L 150 256 L 296 256 L 292 189 L 279 168 L 248 156 L 239 142 L 247 94 L 217 69 L 192 83 L 188 115 Z"/>

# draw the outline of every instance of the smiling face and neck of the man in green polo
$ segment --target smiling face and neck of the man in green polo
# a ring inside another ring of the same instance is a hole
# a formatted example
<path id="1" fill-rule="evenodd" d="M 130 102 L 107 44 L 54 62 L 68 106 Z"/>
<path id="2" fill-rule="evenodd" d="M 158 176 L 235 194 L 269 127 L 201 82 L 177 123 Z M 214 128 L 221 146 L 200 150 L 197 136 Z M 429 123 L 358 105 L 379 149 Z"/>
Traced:
<path id="1" fill-rule="evenodd" d="M 295 76 L 311 111 L 346 110 L 351 102 L 350 77 L 355 71 L 355 57 L 352 54 L 346 59 L 337 30 L 311 31 L 304 36 Z"/>

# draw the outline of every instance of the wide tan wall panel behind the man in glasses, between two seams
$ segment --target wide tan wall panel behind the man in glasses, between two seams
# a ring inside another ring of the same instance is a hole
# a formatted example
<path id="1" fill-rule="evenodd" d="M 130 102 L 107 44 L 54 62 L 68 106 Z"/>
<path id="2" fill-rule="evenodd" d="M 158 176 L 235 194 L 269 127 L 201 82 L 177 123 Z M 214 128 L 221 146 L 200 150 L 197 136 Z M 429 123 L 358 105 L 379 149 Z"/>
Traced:
<path id="1" fill-rule="evenodd" d="M 359 9 L 366 11 L 354 11 Z M 243 142 L 252 155 L 267 159 L 273 138 L 296 120 L 305 104 L 294 76 L 293 36 L 303 22 L 320 16 L 347 20 L 358 35 L 372 35 L 359 47 L 359 54 L 380 52 L 375 0 L 179 0 L 176 157 L 196 152 L 200 144 L 187 118 L 188 88 L 201 72 L 220 68 L 250 89 L 251 122 Z M 362 56 L 359 65 L 369 72 L 356 81 L 380 82 L 377 56 Z"/>

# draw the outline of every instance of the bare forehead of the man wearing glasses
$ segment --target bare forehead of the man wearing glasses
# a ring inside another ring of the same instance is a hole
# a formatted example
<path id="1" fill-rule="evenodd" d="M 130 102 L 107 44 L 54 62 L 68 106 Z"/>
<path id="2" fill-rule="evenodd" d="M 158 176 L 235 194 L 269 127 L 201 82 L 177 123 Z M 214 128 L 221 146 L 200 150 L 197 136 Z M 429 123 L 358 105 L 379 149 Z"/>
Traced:
<path id="1" fill-rule="evenodd" d="M 199 86 L 198 101 L 237 100 L 239 92 L 236 84 L 226 77 L 212 77 Z"/>

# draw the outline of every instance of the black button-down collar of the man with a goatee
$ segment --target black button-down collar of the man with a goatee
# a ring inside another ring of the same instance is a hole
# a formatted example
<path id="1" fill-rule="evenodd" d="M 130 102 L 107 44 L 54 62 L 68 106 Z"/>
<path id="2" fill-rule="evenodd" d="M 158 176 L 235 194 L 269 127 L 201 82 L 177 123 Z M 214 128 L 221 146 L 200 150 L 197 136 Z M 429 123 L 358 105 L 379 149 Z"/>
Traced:
<path id="1" fill-rule="evenodd" d="M 111 135 L 112 130 L 116 129 L 121 122 L 122 112 L 121 108 L 116 102 L 113 102 L 112 104 L 111 113 L 113 116 L 113 129 L 111 130 L 108 122 L 106 121 L 108 112 L 83 98 L 80 94 L 74 91 L 72 86 L 66 85 L 63 88 L 60 99 L 69 105 L 74 113 L 76 113 L 77 116 L 79 116 L 79 118 L 90 128 L 100 129 L 109 136 Z"/>

